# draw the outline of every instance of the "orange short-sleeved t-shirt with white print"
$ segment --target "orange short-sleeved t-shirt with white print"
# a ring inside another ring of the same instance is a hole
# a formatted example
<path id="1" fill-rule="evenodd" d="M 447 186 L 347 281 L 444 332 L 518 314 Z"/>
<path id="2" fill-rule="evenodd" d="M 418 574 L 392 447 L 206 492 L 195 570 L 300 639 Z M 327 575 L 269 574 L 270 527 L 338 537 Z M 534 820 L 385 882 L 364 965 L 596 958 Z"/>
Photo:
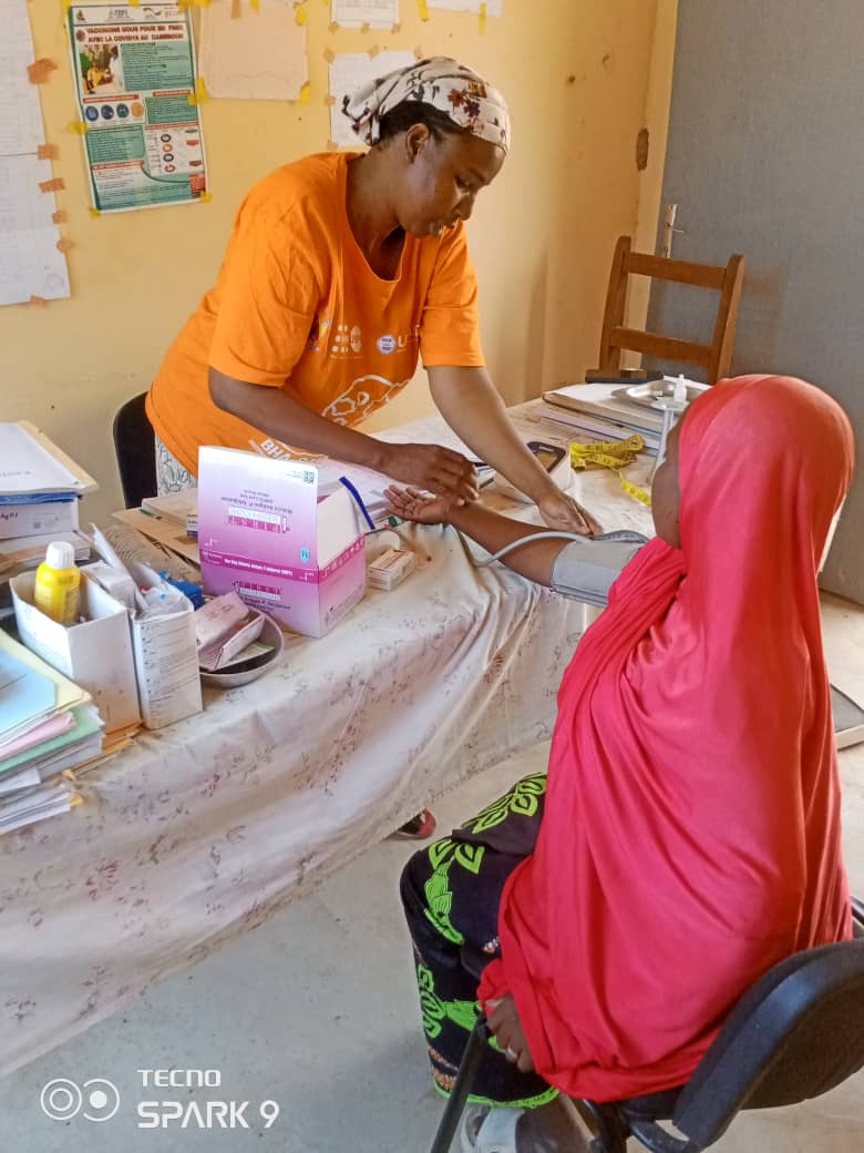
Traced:
<path id="1" fill-rule="evenodd" d="M 200 445 L 288 451 L 213 404 L 211 364 L 351 427 L 408 384 L 418 355 L 426 368 L 484 363 L 464 225 L 407 235 L 396 278 L 382 280 L 348 224 L 350 158 L 328 152 L 286 165 L 241 205 L 217 285 L 147 397 L 157 436 L 190 473 Z"/>

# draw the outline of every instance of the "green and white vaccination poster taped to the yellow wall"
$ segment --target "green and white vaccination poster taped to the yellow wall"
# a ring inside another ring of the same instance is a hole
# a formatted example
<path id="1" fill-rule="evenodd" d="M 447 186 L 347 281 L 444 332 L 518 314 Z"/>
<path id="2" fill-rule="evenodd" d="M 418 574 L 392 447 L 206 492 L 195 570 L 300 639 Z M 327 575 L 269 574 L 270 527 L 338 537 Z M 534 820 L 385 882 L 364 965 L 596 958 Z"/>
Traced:
<path id="1" fill-rule="evenodd" d="M 73 3 L 69 37 L 93 208 L 199 199 L 207 173 L 189 12 Z"/>

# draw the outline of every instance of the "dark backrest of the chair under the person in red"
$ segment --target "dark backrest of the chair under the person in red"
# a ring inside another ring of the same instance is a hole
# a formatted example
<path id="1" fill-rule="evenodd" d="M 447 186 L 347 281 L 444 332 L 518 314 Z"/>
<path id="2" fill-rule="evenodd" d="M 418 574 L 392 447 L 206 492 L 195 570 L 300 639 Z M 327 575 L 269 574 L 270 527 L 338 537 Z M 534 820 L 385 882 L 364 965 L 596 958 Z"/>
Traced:
<path id="1" fill-rule="evenodd" d="M 694 1148 L 740 1109 L 793 1105 L 864 1067 L 864 940 L 795 954 L 741 998 L 675 1105 Z"/>

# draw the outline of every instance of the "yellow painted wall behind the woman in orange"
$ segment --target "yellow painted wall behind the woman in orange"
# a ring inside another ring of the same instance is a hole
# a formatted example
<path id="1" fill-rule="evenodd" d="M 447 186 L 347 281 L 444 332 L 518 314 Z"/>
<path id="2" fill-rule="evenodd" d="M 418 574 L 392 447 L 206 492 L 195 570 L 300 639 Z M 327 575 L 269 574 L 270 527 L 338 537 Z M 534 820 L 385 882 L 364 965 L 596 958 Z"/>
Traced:
<path id="1" fill-rule="evenodd" d="M 30 3 L 36 55 L 59 65 L 41 97 L 47 140 L 60 145 L 54 173 L 67 186 L 58 199 L 74 243 L 73 295 L 0 309 L 0 420 L 35 421 L 93 473 L 101 492 L 88 502 L 90 517 L 119 507 L 115 409 L 146 389 L 213 280 L 245 190 L 325 146 L 325 48 L 372 44 L 462 58 L 506 93 L 513 152 L 470 225 L 486 356 L 508 402 L 577 377 L 597 360 L 615 238 L 636 227 L 641 194 L 647 203 L 635 142 L 657 90 L 657 75 L 653 89 L 650 81 L 658 2 L 662 12 L 670 0 L 505 0 L 505 17 L 490 17 L 480 35 L 476 16 L 431 9 L 423 23 L 414 0 L 402 0 L 401 32 L 364 35 L 329 33 L 329 5 L 308 0 L 311 104 L 211 100 L 203 118 L 213 199 L 97 219 L 81 141 L 67 128 L 75 104 L 60 0 Z M 243 8 L 253 20 L 248 0 Z M 419 374 L 373 427 L 429 407 Z"/>

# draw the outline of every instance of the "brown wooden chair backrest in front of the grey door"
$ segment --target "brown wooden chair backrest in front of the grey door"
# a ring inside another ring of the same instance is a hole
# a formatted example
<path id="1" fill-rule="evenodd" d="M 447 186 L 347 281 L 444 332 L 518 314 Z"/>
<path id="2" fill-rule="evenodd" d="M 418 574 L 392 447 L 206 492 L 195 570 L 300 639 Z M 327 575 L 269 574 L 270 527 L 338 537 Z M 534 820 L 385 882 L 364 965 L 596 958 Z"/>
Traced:
<path id="1" fill-rule="evenodd" d="M 708 344 L 677 340 L 655 332 L 624 327 L 628 277 L 643 276 L 653 280 L 673 280 L 677 284 L 713 288 L 719 293 L 714 334 Z M 606 312 L 600 333 L 600 371 L 614 375 L 621 368 L 621 353 L 645 353 L 659 360 L 695 364 L 707 374 L 707 383 L 729 375 L 735 325 L 738 318 L 741 284 L 744 279 L 744 257 L 730 256 L 722 267 L 713 264 L 691 264 L 665 256 L 630 250 L 630 238 L 619 236 L 609 272 Z"/>

